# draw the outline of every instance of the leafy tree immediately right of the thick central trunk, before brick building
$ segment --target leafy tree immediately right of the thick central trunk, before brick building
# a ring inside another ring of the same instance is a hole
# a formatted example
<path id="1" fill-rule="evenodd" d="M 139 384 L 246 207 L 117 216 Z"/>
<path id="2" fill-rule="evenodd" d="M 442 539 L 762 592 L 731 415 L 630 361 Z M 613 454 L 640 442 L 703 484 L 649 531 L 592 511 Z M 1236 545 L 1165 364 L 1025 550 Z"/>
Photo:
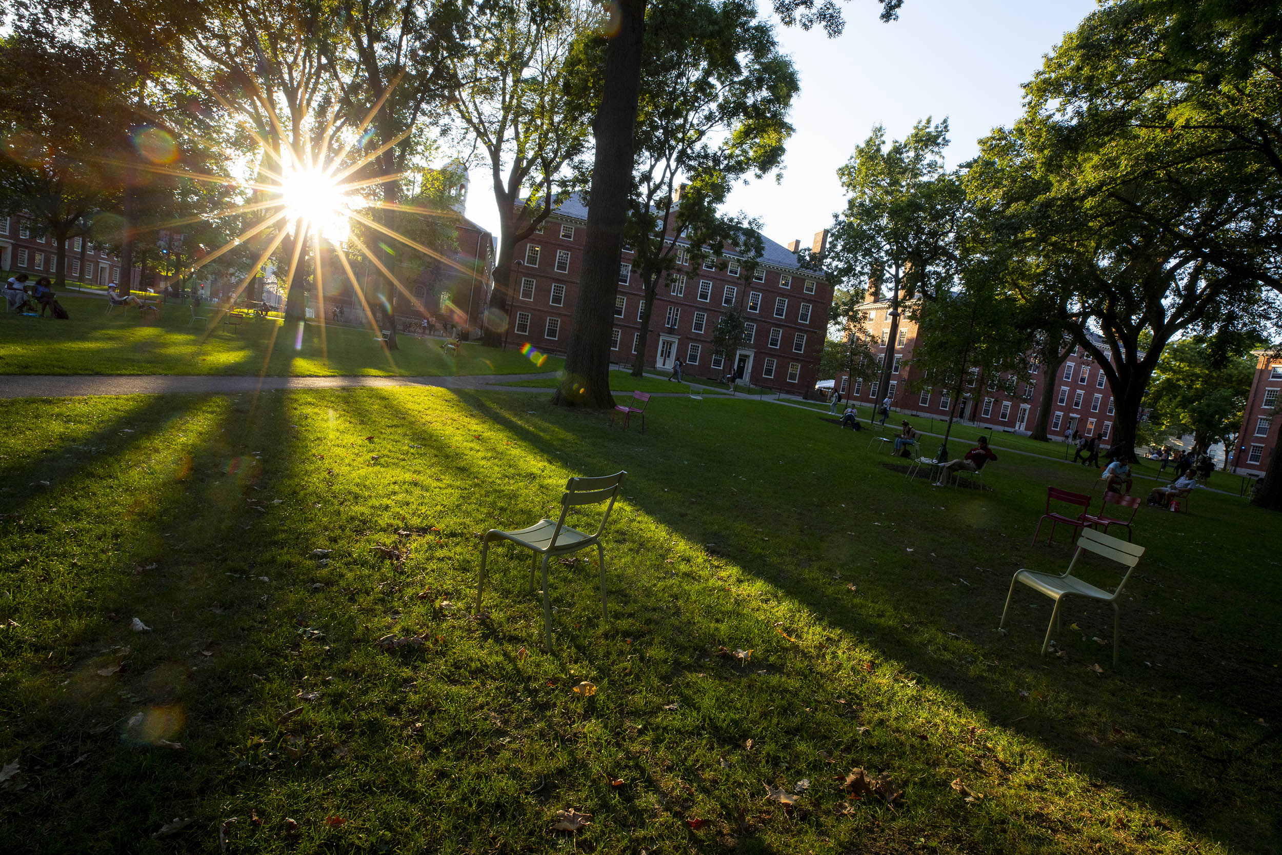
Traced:
<path id="1" fill-rule="evenodd" d="M 627 244 L 645 292 L 637 353 L 640 377 L 660 279 L 669 290 L 682 246 L 692 269 L 727 249 L 745 282 L 764 250 L 756 223 L 719 213 L 742 176 L 776 169 L 792 133 L 787 122 L 796 71 L 769 24 L 740 0 L 665 0 L 646 21 L 636 169 Z M 677 278 L 679 277 L 679 278 Z"/>

